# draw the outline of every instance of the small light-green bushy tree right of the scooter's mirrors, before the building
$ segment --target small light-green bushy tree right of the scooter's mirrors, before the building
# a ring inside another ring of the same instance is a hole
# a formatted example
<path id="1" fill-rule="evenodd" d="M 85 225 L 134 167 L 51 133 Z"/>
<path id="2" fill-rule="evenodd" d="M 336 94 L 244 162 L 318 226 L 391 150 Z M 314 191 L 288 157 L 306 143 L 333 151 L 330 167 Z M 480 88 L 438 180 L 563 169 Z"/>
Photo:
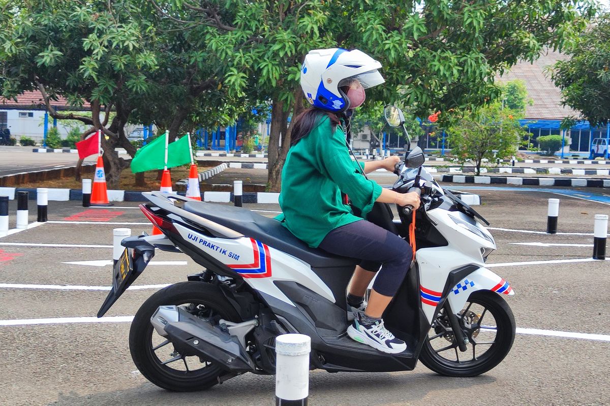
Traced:
<path id="1" fill-rule="evenodd" d="M 448 129 L 451 154 L 462 164 L 474 161 L 476 175 L 481 174 L 483 159 L 506 158 L 517 152 L 517 145 L 527 134 L 501 102 L 468 111 Z"/>

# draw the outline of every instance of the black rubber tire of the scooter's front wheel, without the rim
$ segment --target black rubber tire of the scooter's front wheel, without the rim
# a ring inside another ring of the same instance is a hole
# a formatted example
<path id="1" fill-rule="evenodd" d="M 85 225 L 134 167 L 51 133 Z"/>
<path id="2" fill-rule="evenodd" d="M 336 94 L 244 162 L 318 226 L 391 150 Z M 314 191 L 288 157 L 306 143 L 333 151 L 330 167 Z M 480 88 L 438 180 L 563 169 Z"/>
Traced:
<path id="1" fill-rule="evenodd" d="M 508 303 L 498 293 L 490 290 L 478 290 L 472 293 L 468 302 L 484 306 L 488 312 L 492 313 L 497 326 L 494 343 L 483 356 L 479 356 L 478 360 L 461 363 L 444 359 L 434 352 L 430 341 L 426 339 L 420 353 L 420 361 L 437 374 L 451 377 L 477 376 L 497 366 L 511 351 L 516 326 L 515 317 Z M 472 349 L 469 347 L 468 351 L 472 351 Z"/>

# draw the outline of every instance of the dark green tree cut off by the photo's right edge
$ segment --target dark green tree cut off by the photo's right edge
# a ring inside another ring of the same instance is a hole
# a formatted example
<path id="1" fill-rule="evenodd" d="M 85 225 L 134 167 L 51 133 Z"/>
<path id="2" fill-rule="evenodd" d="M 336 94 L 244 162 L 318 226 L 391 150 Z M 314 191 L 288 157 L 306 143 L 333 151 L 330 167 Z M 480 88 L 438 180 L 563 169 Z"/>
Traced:
<path id="1" fill-rule="evenodd" d="M 581 112 L 592 126 L 610 121 L 610 13 L 598 16 L 565 50 L 551 79 L 561 89 L 563 104 Z"/>

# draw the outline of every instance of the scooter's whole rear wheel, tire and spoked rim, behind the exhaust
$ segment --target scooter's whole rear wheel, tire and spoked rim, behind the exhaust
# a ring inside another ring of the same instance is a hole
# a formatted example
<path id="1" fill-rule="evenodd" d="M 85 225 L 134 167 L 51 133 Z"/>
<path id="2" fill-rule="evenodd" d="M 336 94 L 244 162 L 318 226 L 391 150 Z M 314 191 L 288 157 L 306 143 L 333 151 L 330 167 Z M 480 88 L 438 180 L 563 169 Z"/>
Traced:
<path id="1" fill-rule="evenodd" d="M 180 306 L 210 323 L 242 321 L 218 287 L 207 282 L 180 282 L 149 297 L 135 314 L 129 331 L 129 350 L 146 379 L 170 391 L 196 391 L 212 387 L 223 374 L 220 366 L 199 357 L 184 357 L 151 324 L 159 306 Z"/>

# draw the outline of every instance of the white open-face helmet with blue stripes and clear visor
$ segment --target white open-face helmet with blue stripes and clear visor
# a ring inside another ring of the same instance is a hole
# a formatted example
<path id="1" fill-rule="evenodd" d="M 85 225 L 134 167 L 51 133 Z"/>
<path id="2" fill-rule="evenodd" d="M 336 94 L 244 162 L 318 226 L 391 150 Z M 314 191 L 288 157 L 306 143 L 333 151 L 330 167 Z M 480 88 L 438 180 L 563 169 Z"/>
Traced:
<path id="1" fill-rule="evenodd" d="M 367 89 L 385 80 L 377 71 L 381 63 L 358 49 L 314 49 L 301 67 L 301 88 L 309 103 L 322 110 L 340 113 L 350 108 L 350 99 L 340 86 L 357 80 Z"/>

